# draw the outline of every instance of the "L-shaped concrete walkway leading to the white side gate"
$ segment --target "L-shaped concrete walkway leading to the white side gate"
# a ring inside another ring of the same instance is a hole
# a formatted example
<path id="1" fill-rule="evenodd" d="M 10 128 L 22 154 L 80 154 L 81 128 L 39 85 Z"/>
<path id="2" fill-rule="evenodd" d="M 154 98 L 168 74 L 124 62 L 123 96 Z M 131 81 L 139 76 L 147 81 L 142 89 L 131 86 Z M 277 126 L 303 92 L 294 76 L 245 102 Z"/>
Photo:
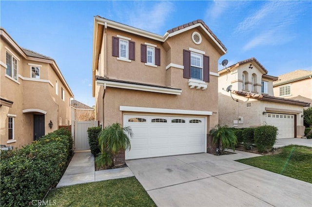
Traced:
<path id="1" fill-rule="evenodd" d="M 95 171 L 94 156 L 90 152 L 76 152 L 57 188 L 131 176 L 134 174 L 128 167 Z"/>

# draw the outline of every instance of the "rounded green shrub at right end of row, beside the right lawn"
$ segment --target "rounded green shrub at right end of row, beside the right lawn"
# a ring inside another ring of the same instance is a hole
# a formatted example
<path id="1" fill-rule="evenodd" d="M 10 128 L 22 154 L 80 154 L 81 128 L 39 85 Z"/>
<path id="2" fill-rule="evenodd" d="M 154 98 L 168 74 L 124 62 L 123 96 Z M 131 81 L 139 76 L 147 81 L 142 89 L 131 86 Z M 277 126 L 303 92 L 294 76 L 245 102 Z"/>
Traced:
<path id="1" fill-rule="evenodd" d="M 254 143 L 258 152 L 266 152 L 271 150 L 277 135 L 277 127 L 275 126 L 259 126 L 254 129 Z"/>

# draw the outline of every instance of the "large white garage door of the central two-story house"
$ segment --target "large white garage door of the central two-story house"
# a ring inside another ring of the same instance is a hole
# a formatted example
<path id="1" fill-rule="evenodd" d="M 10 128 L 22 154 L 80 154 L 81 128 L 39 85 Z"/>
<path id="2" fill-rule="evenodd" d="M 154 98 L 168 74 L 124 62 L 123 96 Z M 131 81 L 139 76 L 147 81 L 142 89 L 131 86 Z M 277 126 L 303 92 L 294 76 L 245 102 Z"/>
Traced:
<path id="1" fill-rule="evenodd" d="M 205 152 L 205 118 L 124 115 L 134 137 L 126 159 Z"/>

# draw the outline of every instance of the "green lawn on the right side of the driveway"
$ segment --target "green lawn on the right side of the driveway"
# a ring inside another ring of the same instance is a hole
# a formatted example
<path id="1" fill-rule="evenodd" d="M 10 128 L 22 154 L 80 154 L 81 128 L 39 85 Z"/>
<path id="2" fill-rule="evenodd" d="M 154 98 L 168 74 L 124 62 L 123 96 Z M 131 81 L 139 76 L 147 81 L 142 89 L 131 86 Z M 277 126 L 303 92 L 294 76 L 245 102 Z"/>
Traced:
<path id="1" fill-rule="evenodd" d="M 312 183 L 312 148 L 298 145 L 282 147 L 276 155 L 236 160 L 257 168 Z"/>

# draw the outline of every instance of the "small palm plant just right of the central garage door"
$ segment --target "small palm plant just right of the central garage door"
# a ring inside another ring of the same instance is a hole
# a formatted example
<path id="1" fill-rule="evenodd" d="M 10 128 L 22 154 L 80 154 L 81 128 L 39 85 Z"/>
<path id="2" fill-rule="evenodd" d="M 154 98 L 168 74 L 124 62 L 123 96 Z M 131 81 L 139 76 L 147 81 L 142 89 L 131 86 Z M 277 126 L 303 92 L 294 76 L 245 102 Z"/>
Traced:
<path id="1" fill-rule="evenodd" d="M 218 143 L 218 149 L 221 150 L 222 154 L 224 154 L 225 148 L 232 148 L 235 150 L 237 138 L 234 131 L 227 125 L 220 126 L 217 124 L 215 128 L 209 131 L 209 134 L 213 137 L 213 143 Z"/>

